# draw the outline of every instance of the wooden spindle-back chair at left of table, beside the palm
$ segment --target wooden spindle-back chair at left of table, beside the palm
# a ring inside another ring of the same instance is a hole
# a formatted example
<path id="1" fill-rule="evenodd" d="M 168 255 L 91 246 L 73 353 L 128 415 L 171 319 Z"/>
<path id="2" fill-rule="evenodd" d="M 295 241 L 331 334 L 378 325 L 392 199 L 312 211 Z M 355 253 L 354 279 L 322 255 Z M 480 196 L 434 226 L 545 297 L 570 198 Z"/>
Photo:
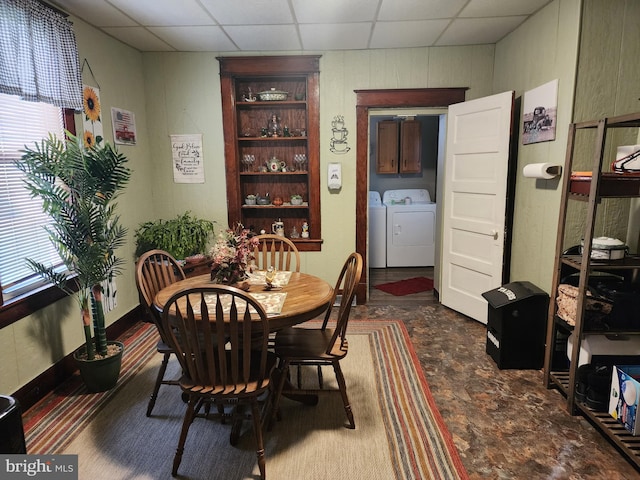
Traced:
<path id="1" fill-rule="evenodd" d="M 147 315 L 157 327 L 160 340 L 156 345 L 156 349 L 158 353 L 163 355 L 162 363 L 156 376 L 156 383 L 147 405 L 147 417 L 151 416 L 153 407 L 156 404 L 160 385 L 178 385 L 177 380 L 166 380 L 164 378 L 173 350 L 167 344 L 166 334 L 160 322 L 160 313 L 153 306 L 153 299 L 160 290 L 178 280 L 184 280 L 184 278 L 184 271 L 178 261 L 163 250 L 150 250 L 142 254 L 136 264 L 136 286 Z"/>

